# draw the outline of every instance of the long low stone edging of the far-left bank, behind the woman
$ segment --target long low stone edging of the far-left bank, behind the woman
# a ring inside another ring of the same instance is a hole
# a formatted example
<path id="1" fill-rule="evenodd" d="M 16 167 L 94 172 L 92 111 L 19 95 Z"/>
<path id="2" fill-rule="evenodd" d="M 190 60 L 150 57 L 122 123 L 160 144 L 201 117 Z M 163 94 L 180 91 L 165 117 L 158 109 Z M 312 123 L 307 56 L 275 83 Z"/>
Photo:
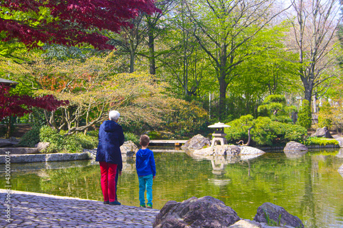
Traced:
<path id="1" fill-rule="evenodd" d="M 74 160 L 91 160 L 91 155 L 84 153 L 39 153 L 39 154 L 14 154 L 0 155 L 0 164 L 6 162 L 27 163 L 27 162 L 63 162 Z"/>

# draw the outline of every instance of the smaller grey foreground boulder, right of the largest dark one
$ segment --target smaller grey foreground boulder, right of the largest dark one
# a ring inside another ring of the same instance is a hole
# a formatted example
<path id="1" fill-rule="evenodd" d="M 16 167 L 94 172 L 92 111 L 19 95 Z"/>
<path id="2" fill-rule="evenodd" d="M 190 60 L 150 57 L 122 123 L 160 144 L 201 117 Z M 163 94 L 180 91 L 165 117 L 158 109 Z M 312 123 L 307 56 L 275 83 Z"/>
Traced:
<path id="1" fill-rule="evenodd" d="M 263 205 L 259 206 L 254 220 L 258 223 L 268 223 L 268 220 L 273 220 L 276 224 L 280 225 L 304 227 L 300 218 L 289 214 L 283 207 L 273 203 L 263 203 Z"/>

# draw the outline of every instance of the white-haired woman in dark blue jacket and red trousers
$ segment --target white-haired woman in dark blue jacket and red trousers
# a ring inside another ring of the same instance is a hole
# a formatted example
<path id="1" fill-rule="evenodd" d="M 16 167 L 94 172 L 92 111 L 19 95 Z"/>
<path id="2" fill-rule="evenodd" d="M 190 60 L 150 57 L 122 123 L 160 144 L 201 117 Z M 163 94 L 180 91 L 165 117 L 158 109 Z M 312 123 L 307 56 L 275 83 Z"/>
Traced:
<path id="1" fill-rule="evenodd" d="M 104 203 L 110 205 L 120 205 L 116 201 L 116 183 L 115 176 L 117 170 L 121 175 L 123 162 L 121 160 L 120 146 L 124 142 L 124 134 L 121 125 L 119 125 L 119 112 L 110 111 L 108 121 L 104 121 L 99 129 L 99 144 L 97 146 L 96 162 L 100 164 L 102 175 L 102 194 Z"/>

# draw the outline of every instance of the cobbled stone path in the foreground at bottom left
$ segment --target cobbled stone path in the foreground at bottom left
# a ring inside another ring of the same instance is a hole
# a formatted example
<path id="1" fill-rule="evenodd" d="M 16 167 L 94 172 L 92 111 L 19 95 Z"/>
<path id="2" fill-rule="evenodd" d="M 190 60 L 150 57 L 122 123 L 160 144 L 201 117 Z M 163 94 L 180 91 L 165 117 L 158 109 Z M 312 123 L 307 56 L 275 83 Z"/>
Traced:
<path id="1" fill-rule="evenodd" d="M 159 210 L 12 190 L 11 223 L 0 189 L 0 227 L 152 227 Z"/>

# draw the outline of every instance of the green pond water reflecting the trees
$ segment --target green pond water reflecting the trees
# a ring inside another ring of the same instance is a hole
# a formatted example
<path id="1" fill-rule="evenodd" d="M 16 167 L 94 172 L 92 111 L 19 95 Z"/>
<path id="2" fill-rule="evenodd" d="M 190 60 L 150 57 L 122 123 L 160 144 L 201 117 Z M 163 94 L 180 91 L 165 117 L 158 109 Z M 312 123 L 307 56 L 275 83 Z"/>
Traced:
<path id="1" fill-rule="evenodd" d="M 152 148 L 154 150 L 154 148 Z M 216 160 L 186 153 L 154 153 L 154 208 L 167 201 L 211 196 L 223 201 L 241 218 L 254 218 L 265 202 L 298 216 L 305 227 L 343 227 L 343 151 L 318 150 L 305 155 L 265 153 L 250 160 Z M 99 165 L 91 161 L 12 164 L 12 190 L 43 192 L 102 201 Z M 126 160 L 119 177 L 123 205 L 139 206 L 134 160 Z M 1 165 L 0 170 L 5 170 Z M 5 174 L 0 173 L 5 180 Z M 4 188 L 5 181 L 0 181 Z"/>

